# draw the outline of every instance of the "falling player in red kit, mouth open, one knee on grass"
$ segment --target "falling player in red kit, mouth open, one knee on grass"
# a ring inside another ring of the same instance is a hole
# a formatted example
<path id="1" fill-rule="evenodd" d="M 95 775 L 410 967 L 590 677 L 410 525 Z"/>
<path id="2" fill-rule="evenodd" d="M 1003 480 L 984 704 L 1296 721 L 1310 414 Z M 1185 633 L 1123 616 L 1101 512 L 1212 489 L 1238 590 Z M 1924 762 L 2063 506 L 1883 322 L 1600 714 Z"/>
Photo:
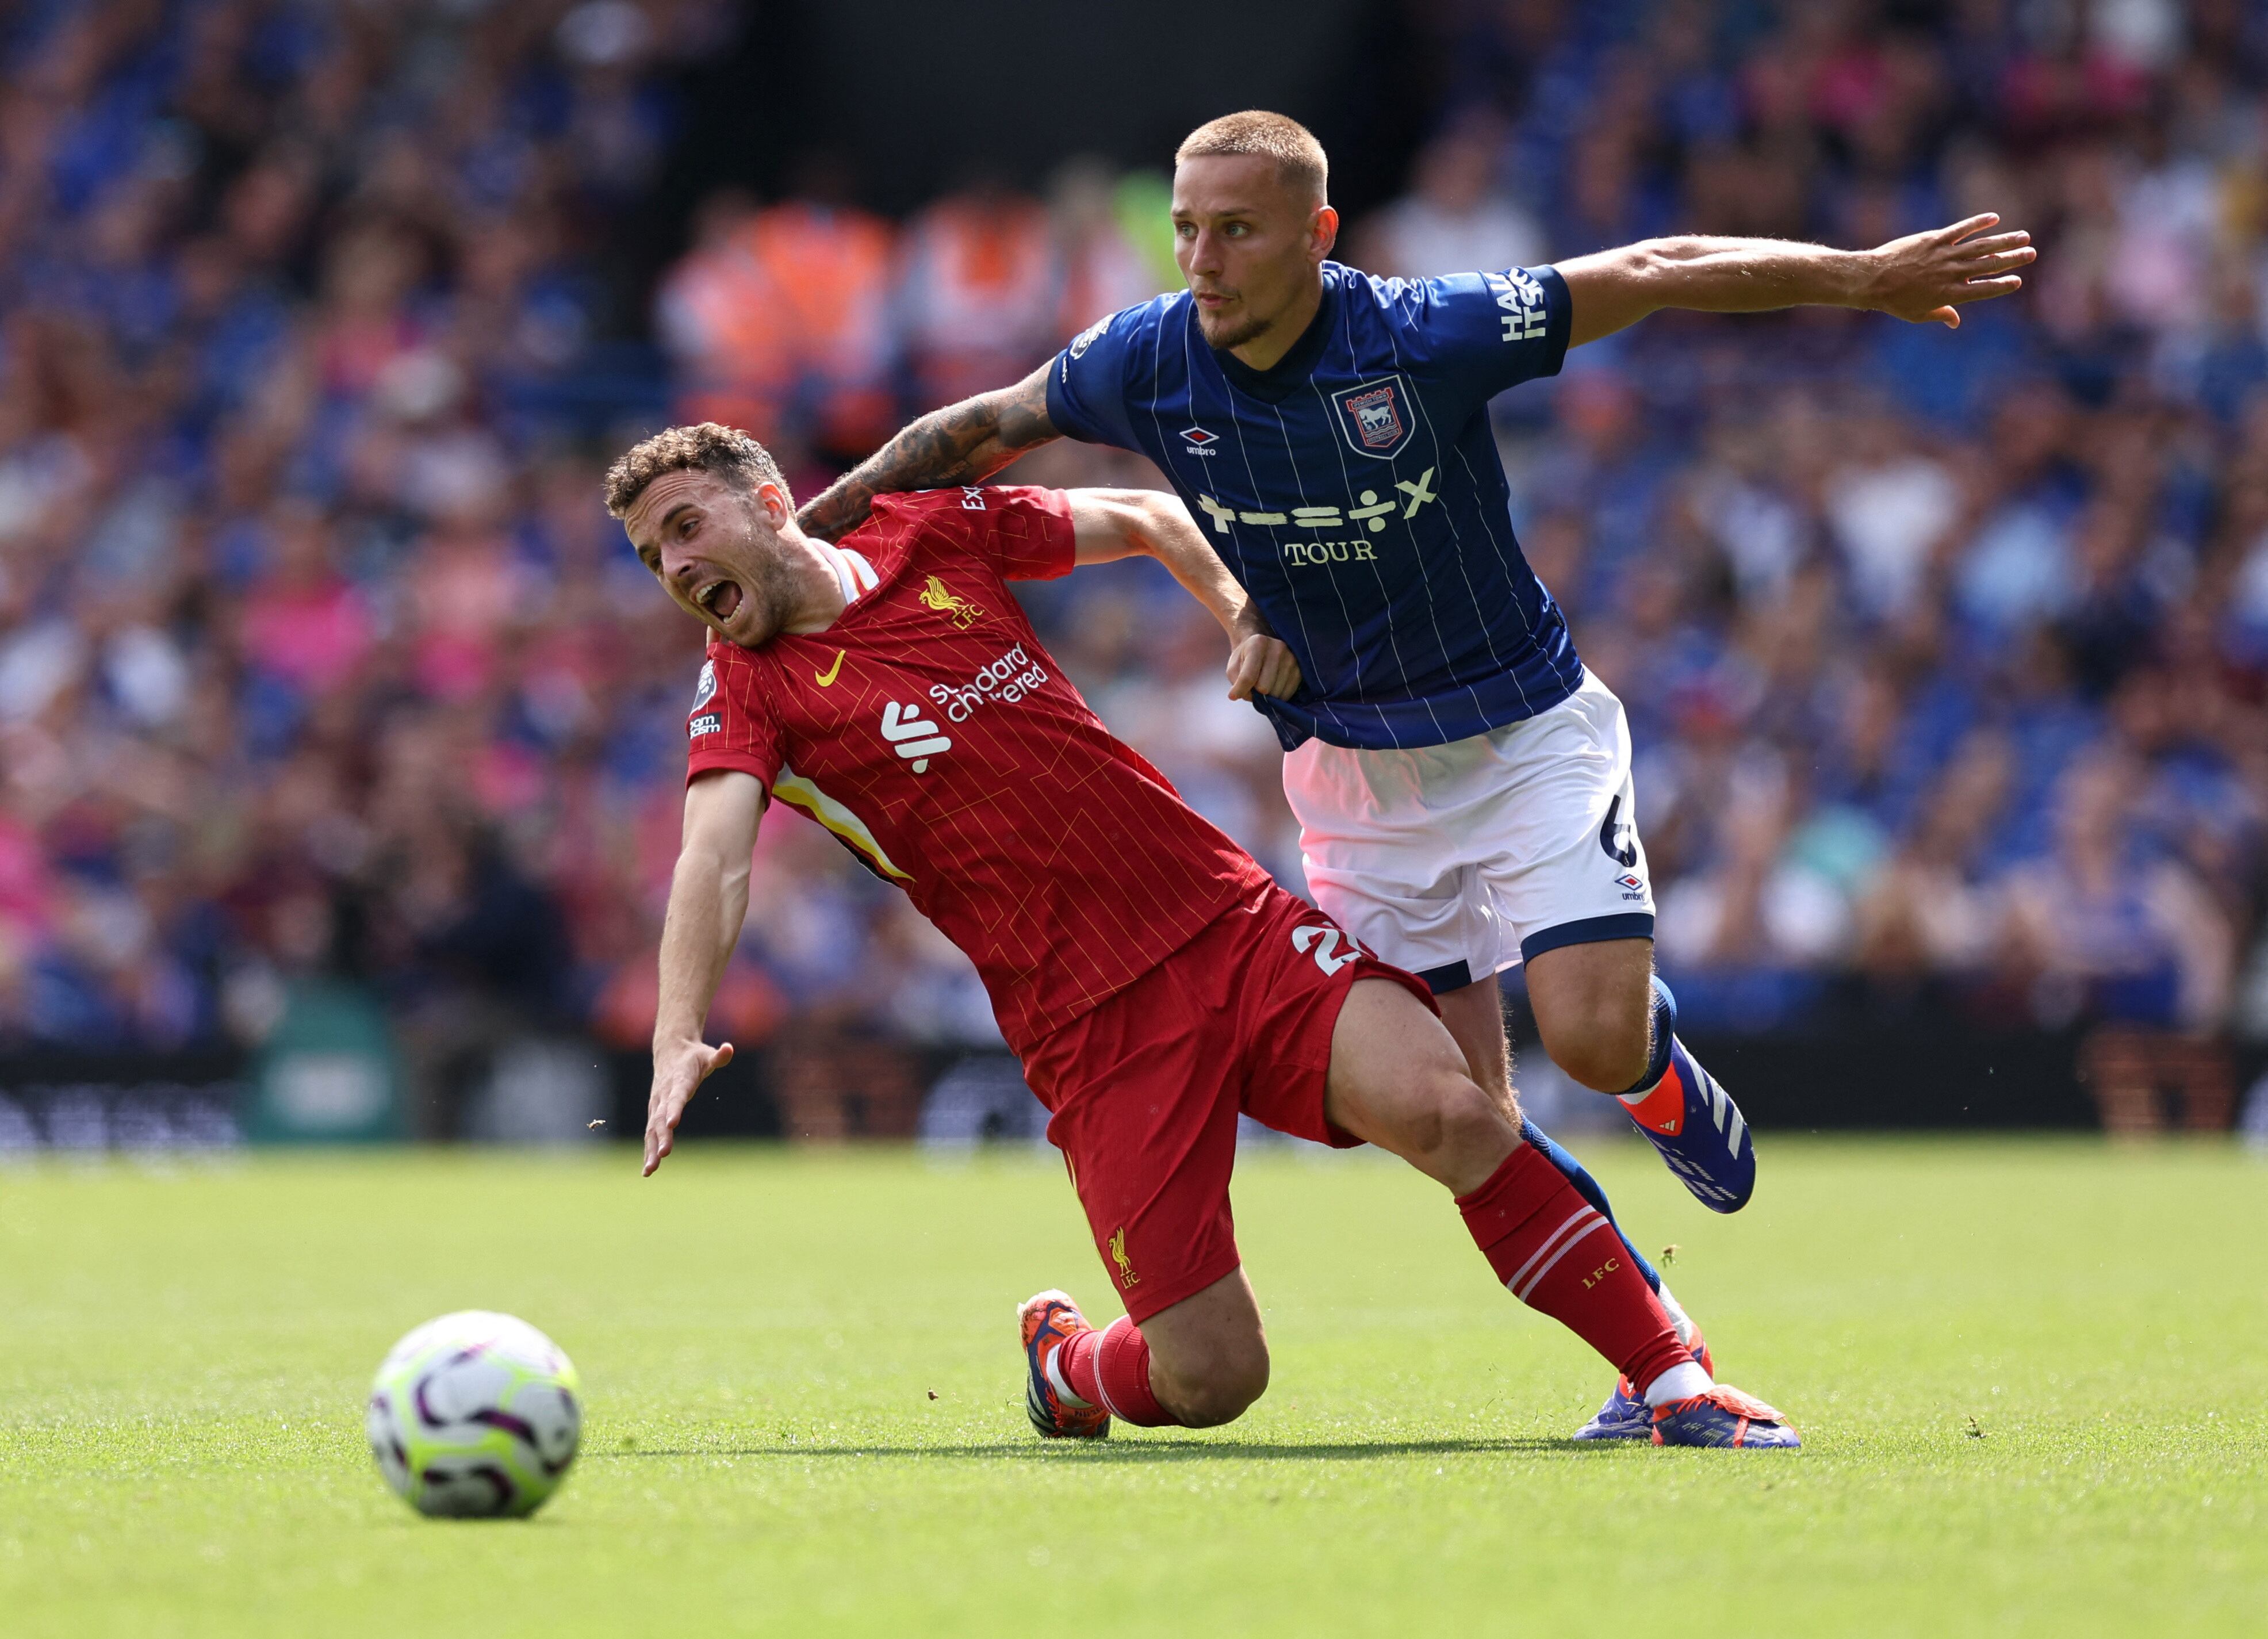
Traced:
<path id="1" fill-rule="evenodd" d="M 1268 1383 L 1229 1217 L 1236 1118 L 1374 1143 L 1452 1190 L 1497 1279 L 1644 1392 L 1656 1442 L 1792 1446 L 1717 1385 L 1615 1224 L 1465 1072 L 1427 986 L 1293 898 L 1105 730 L 1007 583 L 1148 553 L 1227 628 L 1243 698 L 1297 689 L 1182 503 L 1152 492 L 934 490 L 837 544 L 794 524 L 771 456 L 680 426 L 608 472 L 608 510 L 712 637 L 687 719 L 685 839 L 660 950 L 644 1170 L 733 1054 L 703 1020 L 748 907 L 762 809 L 789 802 L 898 884 L 991 993 L 1052 1113 L 1125 1317 L 1018 1308 L 1025 1403 L 1052 1437 L 1207 1426 Z"/>

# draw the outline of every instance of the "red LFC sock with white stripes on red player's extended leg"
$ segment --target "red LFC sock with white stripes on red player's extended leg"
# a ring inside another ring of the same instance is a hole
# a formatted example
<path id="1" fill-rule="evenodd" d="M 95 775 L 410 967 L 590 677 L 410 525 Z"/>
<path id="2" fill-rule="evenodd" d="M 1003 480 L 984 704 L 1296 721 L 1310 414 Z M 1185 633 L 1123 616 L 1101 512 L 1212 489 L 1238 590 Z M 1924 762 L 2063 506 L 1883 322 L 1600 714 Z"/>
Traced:
<path id="1" fill-rule="evenodd" d="M 1456 1208 L 1504 1290 L 1567 1326 L 1640 1392 L 1692 1362 L 1622 1235 L 1538 1149 L 1517 1145 Z"/>

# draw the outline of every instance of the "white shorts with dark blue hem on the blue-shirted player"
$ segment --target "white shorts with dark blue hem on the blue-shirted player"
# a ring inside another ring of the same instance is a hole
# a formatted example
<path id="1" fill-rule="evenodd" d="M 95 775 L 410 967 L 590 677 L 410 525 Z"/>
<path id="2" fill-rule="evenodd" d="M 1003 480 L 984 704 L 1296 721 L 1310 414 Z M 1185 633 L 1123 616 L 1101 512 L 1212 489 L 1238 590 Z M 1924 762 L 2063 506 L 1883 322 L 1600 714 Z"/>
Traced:
<path id="1" fill-rule="evenodd" d="M 1422 750 L 1311 739 L 1284 796 L 1315 905 L 1433 993 L 1560 945 L 1653 936 L 1631 725 L 1590 671 L 1542 716 Z"/>

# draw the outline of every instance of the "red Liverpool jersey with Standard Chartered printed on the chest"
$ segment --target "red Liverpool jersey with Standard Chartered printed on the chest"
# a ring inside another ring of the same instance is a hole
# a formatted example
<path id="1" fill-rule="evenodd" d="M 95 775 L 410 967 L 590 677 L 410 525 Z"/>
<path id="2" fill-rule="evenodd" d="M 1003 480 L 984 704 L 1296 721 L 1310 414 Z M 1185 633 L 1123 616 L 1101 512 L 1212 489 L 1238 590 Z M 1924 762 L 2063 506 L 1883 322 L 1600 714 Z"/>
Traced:
<path id="1" fill-rule="evenodd" d="M 1016 1050 L 1179 950 L 1266 873 L 1070 687 L 1009 580 L 1070 571 L 1025 487 L 875 496 L 875 585 L 823 632 L 710 639 L 687 780 L 742 768 L 975 961 Z"/>

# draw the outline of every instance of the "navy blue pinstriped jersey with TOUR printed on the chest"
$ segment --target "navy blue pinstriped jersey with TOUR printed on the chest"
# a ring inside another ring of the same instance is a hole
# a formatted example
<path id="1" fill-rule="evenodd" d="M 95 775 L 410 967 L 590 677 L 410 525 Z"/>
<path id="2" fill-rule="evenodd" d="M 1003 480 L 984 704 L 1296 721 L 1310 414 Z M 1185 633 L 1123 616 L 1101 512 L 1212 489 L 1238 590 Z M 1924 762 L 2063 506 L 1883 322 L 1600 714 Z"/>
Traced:
<path id="1" fill-rule="evenodd" d="M 1207 347 L 1182 290 L 1077 336 L 1048 417 L 1173 478 L 1300 657 L 1300 696 L 1256 700 L 1286 748 L 1442 746 L 1583 680 L 1513 540 L 1488 426 L 1495 394 L 1565 356 L 1551 267 L 1411 281 L 1325 263 L 1315 322 L 1270 370 Z"/>

